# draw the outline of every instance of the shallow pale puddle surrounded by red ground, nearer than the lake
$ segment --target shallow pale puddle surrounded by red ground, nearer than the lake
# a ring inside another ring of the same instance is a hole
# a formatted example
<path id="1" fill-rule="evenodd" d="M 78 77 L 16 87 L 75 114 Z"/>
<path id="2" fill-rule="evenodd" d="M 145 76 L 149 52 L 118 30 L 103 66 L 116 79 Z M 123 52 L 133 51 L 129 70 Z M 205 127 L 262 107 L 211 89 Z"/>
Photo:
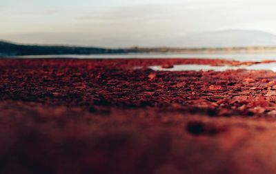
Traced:
<path id="1" fill-rule="evenodd" d="M 276 63 L 269 64 L 254 64 L 251 66 L 210 66 L 210 65 L 198 65 L 198 64 L 185 64 L 185 65 L 175 65 L 173 68 L 162 68 L 162 66 L 150 66 L 152 70 L 166 70 L 166 71 L 183 71 L 183 70 L 215 70 L 215 71 L 225 71 L 225 70 L 272 70 L 276 72 Z"/>

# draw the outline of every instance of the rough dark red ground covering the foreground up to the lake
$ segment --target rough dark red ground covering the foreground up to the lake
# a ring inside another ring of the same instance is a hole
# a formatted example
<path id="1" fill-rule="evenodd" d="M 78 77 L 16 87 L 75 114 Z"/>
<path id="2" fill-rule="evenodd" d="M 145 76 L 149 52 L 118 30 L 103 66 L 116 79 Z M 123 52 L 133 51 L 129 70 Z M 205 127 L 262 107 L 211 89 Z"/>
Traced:
<path id="1" fill-rule="evenodd" d="M 258 63 L 1 59 L 0 173 L 276 173 L 275 72 L 147 68 Z"/>

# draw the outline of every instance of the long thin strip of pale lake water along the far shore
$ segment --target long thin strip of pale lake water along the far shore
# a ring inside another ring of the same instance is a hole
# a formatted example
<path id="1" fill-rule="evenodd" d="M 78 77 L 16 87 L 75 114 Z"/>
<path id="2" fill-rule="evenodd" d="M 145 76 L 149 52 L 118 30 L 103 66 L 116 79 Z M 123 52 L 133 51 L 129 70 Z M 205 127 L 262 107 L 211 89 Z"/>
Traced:
<path id="1" fill-rule="evenodd" d="M 183 54 L 183 53 L 137 53 L 116 55 L 39 55 L 20 56 L 15 58 L 76 58 L 76 59 L 119 59 L 119 58 L 198 58 L 198 59 L 227 59 L 236 61 L 276 60 L 276 52 L 270 53 L 229 53 L 229 54 Z"/>

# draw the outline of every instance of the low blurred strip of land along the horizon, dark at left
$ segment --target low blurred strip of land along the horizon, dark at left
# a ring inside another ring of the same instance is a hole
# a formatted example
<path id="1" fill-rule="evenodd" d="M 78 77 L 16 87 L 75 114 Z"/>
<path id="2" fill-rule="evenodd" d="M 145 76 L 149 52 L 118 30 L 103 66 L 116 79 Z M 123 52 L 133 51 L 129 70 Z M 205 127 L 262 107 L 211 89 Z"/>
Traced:
<path id="1" fill-rule="evenodd" d="M 223 52 L 276 52 L 273 46 L 250 46 L 229 48 L 95 48 L 78 46 L 43 46 L 23 45 L 0 41 L 0 55 L 2 57 L 21 55 L 95 55 L 95 54 L 123 54 L 123 53 L 151 53 L 151 52 L 179 52 L 179 53 L 223 53 Z"/>

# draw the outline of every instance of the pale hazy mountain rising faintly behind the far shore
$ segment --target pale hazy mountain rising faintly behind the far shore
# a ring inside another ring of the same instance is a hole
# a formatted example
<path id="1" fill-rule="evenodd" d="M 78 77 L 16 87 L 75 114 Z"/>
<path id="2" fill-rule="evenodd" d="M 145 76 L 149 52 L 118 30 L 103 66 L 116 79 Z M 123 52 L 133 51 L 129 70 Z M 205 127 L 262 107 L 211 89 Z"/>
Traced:
<path id="1" fill-rule="evenodd" d="M 185 48 L 276 46 L 276 36 L 257 30 L 221 30 L 188 35 L 178 45 Z"/>

